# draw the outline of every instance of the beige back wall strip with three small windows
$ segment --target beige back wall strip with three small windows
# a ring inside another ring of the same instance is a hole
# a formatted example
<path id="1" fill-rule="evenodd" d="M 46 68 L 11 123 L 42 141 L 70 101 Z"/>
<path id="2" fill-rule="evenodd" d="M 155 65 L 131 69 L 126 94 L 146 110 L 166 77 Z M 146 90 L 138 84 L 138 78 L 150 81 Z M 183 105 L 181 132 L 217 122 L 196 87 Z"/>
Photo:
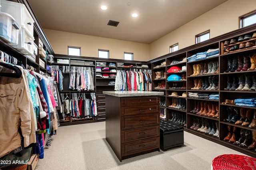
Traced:
<path id="1" fill-rule="evenodd" d="M 124 59 L 124 52 L 133 53 L 134 60 L 148 61 L 149 44 L 74 34 L 44 29 L 54 53 L 68 54 L 68 46 L 81 47 L 81 55 L 98 57 L 98 49 L 109 50 L 111 59 Z"/>

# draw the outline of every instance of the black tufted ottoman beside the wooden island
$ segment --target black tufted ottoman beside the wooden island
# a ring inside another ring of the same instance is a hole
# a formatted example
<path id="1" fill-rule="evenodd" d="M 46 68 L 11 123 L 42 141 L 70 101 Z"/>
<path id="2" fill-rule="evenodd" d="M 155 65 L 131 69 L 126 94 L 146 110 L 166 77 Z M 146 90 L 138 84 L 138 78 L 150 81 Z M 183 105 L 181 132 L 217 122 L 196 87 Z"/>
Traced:
<path id="1" fill-rule="evenodd" d="M 184 144 L 184 128 L 172 122 L 160 120 L 160 148 L 167 150 Z"/>

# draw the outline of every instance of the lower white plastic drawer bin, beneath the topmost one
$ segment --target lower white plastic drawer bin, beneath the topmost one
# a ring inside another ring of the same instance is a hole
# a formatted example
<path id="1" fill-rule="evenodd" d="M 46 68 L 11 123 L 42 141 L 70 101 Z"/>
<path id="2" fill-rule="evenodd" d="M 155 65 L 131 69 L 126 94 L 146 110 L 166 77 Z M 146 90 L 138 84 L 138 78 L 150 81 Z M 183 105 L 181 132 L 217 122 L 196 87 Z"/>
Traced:
<path id="1" fill-rule="evenodd" d="M 18 39 L 18 45 L 12 45 L 12 47 L 18 49 L 18 51 L 25 55 L 34 55 L 34 37 L 31 37 L 25 28 L 20 29 Z"/>

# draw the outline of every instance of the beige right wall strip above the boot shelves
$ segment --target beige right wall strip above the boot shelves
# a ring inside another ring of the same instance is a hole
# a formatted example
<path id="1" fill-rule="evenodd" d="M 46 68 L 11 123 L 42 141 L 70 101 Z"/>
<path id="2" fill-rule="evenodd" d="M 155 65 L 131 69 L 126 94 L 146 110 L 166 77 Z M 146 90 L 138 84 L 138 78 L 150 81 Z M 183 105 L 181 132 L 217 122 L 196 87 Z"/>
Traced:
<path id="1" fill-rule="evenodd" d="M 210 38 L 237 30 L 239 17 L 256 10 L 256 0 L 228 0 L 182 27 L 150 44 L 150 57 L 154 59 L 169 53 L 171 45 L 179 49 L 195 44 L 195 36 L 210 30 Z"/>

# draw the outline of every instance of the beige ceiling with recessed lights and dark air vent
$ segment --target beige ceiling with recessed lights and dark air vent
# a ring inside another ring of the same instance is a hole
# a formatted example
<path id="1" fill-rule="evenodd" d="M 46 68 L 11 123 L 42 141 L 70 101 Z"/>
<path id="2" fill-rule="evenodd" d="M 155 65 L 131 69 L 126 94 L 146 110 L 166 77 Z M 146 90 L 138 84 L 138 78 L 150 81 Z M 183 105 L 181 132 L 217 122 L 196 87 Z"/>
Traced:
<path id="1" fill-rule="evenodd" d="M 226 1 L 28 0 L 44 29 L 140 43 L 152 43 Z M 102 5 L 108 9 L 101 10 Z M 109 20 L 120 23 L 108 26 Z"/>

